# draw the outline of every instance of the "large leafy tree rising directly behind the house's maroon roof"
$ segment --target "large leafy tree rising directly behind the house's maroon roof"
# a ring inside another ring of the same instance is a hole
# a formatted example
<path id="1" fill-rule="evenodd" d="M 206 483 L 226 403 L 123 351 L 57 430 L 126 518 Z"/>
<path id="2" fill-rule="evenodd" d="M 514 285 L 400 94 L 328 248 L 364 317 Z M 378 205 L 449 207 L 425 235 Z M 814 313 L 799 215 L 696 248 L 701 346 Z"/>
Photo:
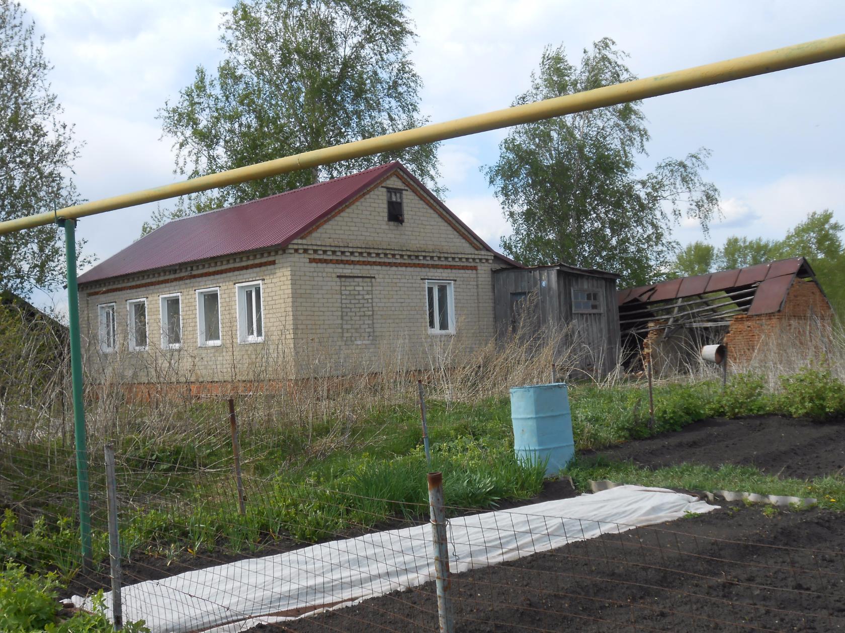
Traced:
<path id="1" fill-rule="evenodd" d="M 175 173 L 194 177 L 417 127 L 422 82 L 399 0 L 241 0 L 221 26 L 225 58 L 166 103 Z M 438 192 L 438 143 L 273 176 L 183 198 L 166 219 L 243 203 L 389 160 Z"/>

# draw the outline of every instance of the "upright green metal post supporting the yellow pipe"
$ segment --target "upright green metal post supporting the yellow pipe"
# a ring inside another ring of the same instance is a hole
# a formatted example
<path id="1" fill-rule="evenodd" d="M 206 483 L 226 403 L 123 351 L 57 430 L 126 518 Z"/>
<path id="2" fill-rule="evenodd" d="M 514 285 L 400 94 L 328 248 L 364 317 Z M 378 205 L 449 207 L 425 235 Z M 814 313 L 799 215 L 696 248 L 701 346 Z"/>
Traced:
<path id="1" fill-rule="evenodd" d="M 91 508 L 88 492 L 88 449 L 85 447 L 85 405 L 82 400 L 82 344 L 79 338 L 79 293 L 76 284 L 76 220 L 58 219 L 64 228 L 64 252 L 68 263 L 68 325 L 70 329 L 70 376 L 74 394 L 74 439 L 76 441 L 76 484 L 79 490 L 79 533 L 82 560 L 90 568 Z"/>

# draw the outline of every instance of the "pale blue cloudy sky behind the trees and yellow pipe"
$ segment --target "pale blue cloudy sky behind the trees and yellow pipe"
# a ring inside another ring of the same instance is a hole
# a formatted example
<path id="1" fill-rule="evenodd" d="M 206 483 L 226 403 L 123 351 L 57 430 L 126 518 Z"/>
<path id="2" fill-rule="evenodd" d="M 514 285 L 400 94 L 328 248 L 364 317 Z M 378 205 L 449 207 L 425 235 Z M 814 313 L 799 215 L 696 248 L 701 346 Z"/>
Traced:
<path id="1" fill-rule="evenodd" d="M 76 181 L 89 200 L 177 180 L 156 111 L 203 64 L 220 60 L 226 0 L 23 0 L 45 35 L 52 89 L 85 141 Z M 423 0 L 414 59 L 433 122 L 509 106 L 528 87 L 542 48 L 563 43 L 575 60 L 603 36 L 630 53 L 640 77 L 837 35 L 845 3 L 519 2 Z M 845 221 L 845 61 L 825 62 L 646 100 L 649 169 L 669 156 L 712 150 L 708 177 L 722 192 L 728 235 L 781 237 L 805 214 L 831 208 Z M 444 143 L 446 197 L 492 246 L 508 226 L 479 168 L 496 160 L 506 131 Z M 104 259 L 139 236 L 154 205 L 84 219 L 79 233 Z M 680 225 L 682 242 L 701 239 Z"/>

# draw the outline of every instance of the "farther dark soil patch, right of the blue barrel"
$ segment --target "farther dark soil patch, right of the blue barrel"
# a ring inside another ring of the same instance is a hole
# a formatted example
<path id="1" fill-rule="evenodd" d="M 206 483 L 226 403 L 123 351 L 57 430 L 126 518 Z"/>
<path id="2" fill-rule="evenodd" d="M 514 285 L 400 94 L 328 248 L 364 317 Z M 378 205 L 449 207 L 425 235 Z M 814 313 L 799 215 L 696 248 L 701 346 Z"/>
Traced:
<path id="1" fill-rule="evenodd" d="M 630 441 L 601 452 L 613 461 L 633 460 L 647 468 L 677 463 L 750 465 L 781 477 L 812 479 L 845 468 L 845 421 L 814 423 L 766 416 L 708 419 L 683 430 Z"/>

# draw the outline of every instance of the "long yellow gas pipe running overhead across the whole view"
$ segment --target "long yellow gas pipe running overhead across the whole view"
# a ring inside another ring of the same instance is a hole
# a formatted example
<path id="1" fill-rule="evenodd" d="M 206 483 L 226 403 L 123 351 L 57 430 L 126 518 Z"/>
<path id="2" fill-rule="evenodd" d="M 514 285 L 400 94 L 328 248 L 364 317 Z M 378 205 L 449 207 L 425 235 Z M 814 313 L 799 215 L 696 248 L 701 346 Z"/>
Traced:
<path id="1" fill-rule="evenodd" d="M 735 57 L 724 62 L 714 62 L 695 68 L 678 70 L 673 73 L 654 75 L 635 79 L 624 84 L 614 84 L 575 93 L 536 101 L 523 106 L 513 106 L 465 116 L 453 121 L 433 123 L 403 132 L 384 134 L 384 136 L 366 138 L 361 141 L 335 145 L 334 147 L 315 149 L 302 154 L 294 154 L 281 159 L 268 160 L 257 165 L 238 167 L 221 171 L 209 176 L 199 176 L 171 185 L 153 187 L 143 191 L 125 193 L 120 196 L 106 197 L 90 203 L 58 209 L 55 213 L 30 215 L 25 218 L 9 219 L 0 222 L 0 235 L 34 226 L 52 224 L 57 218 L 82 218 L 113 211 L 117 208 L 134 207 L 138 204 L 165 200 L 170 197 L 184 196 L 188 193 L 201 192 L 217 187 L 225 187 L 238 182 L 252 181 L 267 176 L 276 176 L 290 171 L 309 169 L 317 165 L 327 165 L 339 160 L 347 160 L 379 154 L 391 149 L 405 149 L 413 145 L 433 143 L 446 138 L 455 138 L 488 132 L 500 127 L 510 127 L 549 119 L 553 116 L 593 110 L 605 106 L 615 106 L 628 101 L 646 99 L 673 92 L 701 88 L 726 81 L 774 73 L 778 70 L 806 66 L 817 62 L 845 57 L 845 35 L 834 35 L 822 40 L 805 42 L 794 46 L 776 48 L 773 51 L 756 53 L 745 57 Z"/>

